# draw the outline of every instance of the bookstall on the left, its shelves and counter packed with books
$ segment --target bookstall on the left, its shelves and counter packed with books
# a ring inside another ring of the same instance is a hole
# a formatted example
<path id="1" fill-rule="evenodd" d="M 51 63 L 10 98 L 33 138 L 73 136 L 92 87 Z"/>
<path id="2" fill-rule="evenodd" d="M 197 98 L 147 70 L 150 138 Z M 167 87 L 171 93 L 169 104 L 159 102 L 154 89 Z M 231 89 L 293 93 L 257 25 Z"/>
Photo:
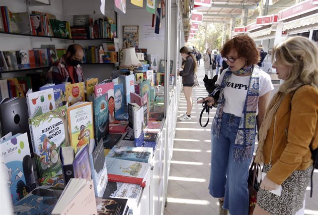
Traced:
<path id="1" fill-rule="evenodd" d="M 163 215 L 183 45 L 180 1 L 0 0 L 1 211 Z"/>

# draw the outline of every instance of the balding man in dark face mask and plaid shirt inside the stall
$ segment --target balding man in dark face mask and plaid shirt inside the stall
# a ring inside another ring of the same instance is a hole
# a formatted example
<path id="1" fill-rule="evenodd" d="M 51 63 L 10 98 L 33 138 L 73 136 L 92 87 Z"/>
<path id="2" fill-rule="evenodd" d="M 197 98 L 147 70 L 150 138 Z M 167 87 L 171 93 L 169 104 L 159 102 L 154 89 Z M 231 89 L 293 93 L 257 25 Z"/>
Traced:
<path id="1" fill-rule="evenodd" d="M 49 69 L 48 83 L 82 82 L 84 77 L 79 63 L 83 56 L 83 48 L 79 44 L 70 45 L 67 53 L 63 54 Z"/>

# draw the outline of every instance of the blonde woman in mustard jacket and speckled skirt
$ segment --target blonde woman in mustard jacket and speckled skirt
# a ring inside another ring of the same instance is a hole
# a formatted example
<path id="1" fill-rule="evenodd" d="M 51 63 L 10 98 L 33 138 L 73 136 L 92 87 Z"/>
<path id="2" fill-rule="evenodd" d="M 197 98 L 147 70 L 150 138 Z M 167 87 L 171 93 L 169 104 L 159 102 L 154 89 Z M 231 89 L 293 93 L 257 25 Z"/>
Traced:
<path id="1" fill-rule="evenodd" d="M 303 207 L 313 169 L 310 148 L 318 147 L 318 47 L 291 37 L 273 49 L 273 68 L 284 80 L 259 131 L 255 161 L 265 178 L 254 215 L 295 215 Z M 271 193 L 282 186 L 281 195 Z"/>

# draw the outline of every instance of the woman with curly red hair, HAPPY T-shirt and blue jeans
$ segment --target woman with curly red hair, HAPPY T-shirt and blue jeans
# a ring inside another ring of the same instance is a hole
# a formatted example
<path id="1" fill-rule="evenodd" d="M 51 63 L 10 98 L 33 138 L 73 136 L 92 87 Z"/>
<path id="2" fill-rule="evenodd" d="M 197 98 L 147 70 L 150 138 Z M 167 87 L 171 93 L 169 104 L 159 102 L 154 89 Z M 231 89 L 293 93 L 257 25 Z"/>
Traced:
<path id="1" fill-rule="evenodd" d="M 247 215 L 248 167 L 252 159 L 256 126 L 262 123 L 274 89 L 270 76 L 257 63 L 259 52 L 247 35 L 229 40 L 221 55 L 229 64 L 216 82 L 220 97 L 198 103 L 218 105 L 211 127 L 210 195 L 219 198 L 220 215 Z"/>

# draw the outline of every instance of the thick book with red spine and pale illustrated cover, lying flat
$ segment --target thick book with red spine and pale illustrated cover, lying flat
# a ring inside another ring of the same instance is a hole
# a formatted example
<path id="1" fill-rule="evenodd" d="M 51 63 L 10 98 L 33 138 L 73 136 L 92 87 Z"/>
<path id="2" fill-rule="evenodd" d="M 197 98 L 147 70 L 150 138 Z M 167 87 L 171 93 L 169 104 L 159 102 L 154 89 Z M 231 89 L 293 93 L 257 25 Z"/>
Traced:
<path id="1" fill-rule="evenodd" d="M 145 187 L 150 165 L 150 163 L 106 157 L 108 181 L 140 184 Z"/>

